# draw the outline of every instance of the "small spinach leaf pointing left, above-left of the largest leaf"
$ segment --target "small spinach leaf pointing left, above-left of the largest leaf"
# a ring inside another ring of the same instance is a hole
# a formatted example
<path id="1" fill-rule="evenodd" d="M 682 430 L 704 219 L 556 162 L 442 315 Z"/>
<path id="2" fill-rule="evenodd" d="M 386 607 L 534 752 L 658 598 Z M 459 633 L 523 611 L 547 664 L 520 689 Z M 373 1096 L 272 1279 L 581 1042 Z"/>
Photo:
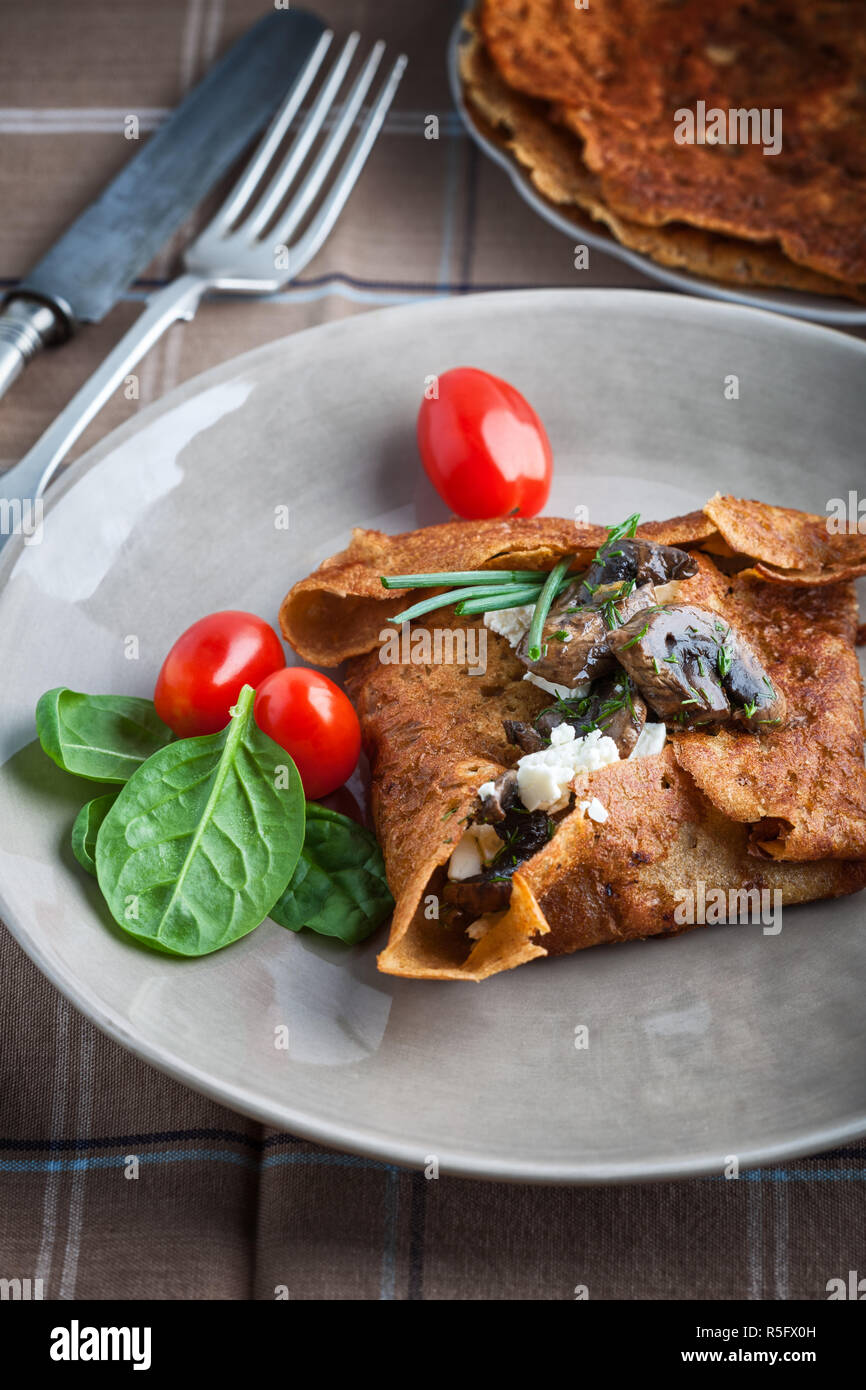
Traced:
<path id="1" fill-rule="evenodd" d="M 153 701 L 136 695 L 82 695 L 65 685 L 36 705 L 43 749 L 64 771 L 89 781 L 125 783 L 174 734 Z"/>

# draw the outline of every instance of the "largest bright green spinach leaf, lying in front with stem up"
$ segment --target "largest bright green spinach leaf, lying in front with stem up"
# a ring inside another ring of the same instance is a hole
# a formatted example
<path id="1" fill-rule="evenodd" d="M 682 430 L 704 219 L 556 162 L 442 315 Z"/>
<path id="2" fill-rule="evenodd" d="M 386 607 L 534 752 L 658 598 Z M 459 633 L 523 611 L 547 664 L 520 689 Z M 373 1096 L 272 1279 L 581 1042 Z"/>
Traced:
<path id="1" fill-rule="evenodd" d="M 96 841 L 115 922 L 139 941 L 200 956 L 246 935 L 292 877 L 304 834 L 295 763 L 253 720 L 245 685 L 220 734 L 156 752 Z"/>

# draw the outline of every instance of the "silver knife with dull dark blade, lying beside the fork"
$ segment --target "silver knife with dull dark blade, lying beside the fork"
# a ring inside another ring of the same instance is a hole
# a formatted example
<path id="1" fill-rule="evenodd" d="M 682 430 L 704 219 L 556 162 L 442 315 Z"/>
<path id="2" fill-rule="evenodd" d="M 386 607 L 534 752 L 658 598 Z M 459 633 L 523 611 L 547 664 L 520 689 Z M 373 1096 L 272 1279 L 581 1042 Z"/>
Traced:
<path id="1" fill-rule="evenodd" d="M 253 25 L 10 291 L 0 396 L 40 348 L 108 313 L 264 128 L 324 28 L 304 10 L 275 10 Z"/>

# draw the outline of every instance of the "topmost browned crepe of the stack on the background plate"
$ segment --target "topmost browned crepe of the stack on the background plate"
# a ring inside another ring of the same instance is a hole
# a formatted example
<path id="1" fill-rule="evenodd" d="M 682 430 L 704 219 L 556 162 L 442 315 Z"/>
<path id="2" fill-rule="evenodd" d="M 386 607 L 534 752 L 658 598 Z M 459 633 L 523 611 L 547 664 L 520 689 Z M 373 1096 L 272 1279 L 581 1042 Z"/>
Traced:
<path id="1" fill-rule="evenodd" d="M 778 243 L 866 281 L 866 0 L 482 0 L 509 86 L 555 103 L 614 214 Z M 674 113 L 780 108 L 783 146 L 677 145 Z"/>

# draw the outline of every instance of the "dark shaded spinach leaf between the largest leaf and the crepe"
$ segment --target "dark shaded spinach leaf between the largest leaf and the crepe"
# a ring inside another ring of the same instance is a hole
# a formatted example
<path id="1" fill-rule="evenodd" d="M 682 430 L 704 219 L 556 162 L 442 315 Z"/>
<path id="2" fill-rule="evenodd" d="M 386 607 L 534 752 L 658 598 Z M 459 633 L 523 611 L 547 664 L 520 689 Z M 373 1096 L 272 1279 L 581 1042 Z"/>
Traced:
<path id="1" fill-rule="evenodd" d="M 271 908 L 274 922 L 354 945 L 392 910 L 375 835 L 336 810 L 307 802 L 303 849 L 288 888 Z"/>

